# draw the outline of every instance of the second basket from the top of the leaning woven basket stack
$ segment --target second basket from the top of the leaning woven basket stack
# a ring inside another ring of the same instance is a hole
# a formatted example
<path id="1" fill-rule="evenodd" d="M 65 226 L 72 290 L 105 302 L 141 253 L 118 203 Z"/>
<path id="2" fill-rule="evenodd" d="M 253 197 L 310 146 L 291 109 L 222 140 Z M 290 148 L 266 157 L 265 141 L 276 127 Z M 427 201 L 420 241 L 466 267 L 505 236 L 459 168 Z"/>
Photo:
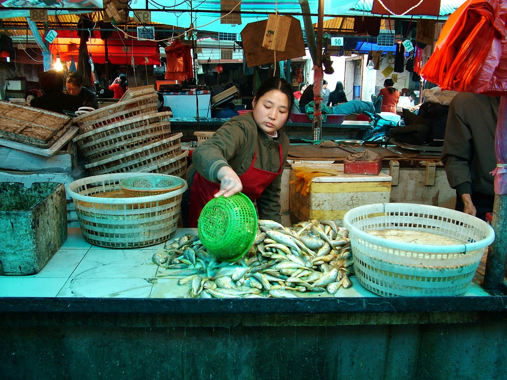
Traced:
<path id="1" fill-rule="evenodd" d="M 74 119 L 74 122 L 79 126 L 81 133 L 90 132 L 111 123 L 157 113 L 157 99 L 158 96 L 154 91 L 153 94 L 136 96 L 85 113 Z"/>

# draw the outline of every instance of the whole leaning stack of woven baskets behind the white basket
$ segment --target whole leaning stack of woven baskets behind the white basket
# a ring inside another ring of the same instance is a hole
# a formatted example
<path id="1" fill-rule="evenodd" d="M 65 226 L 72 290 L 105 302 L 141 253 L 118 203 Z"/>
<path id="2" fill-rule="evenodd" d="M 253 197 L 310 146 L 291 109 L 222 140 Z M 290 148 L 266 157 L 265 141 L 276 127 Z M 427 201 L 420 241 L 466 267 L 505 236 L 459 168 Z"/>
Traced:
<path id="1" fill-rule="evenodd" d="M 157 112 L 153 86 L 129 89 L 118 103 L 75 119 L 74 138 L 89 175 L 153 172 L 184 178 L 188 150 L 171 133 L 169 112 Z"/>

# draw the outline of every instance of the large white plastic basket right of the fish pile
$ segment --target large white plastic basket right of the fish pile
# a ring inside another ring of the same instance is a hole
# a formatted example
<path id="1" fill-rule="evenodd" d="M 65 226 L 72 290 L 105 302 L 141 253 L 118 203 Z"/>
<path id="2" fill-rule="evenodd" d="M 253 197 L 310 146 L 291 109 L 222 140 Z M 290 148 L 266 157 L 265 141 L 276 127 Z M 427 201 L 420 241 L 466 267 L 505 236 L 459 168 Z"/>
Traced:
<path id="1" fill-rule="evenodd" d="M 495 234 L 485 221 L 442 207 L 383 203 L 344 215 L 359 283 L 383 296 L 448 296 L 466 293 Z M 430 245 L 388 240 L 370 230 L 410 230 L 462 244 Z"/>

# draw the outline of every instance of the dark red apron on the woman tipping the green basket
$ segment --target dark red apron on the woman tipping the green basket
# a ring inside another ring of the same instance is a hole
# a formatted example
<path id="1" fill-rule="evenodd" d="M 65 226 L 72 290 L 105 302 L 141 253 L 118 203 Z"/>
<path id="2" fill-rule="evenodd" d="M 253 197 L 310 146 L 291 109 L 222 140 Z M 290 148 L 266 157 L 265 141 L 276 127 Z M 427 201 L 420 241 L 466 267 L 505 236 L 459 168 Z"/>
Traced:
<path id="1" fill-rule="evenodd" d="M 278 145 L 278 148 L 280 150 L 280 170 L 277 173 L 253 167 L 257 159 L 256 150 L 250 167 L 239 176 L 243 184 L 242 193 L 252 201 L 259 199 L 264 189 L 282 172 L 283 154 L 281 144 Z M 220 183 L 210 182 L 199 173 L 195 173 L 190 187 L 189 227 L 197 227 L 197 220 L 203 207 L 213 199 L 213 196 L 219 190 Z"/>

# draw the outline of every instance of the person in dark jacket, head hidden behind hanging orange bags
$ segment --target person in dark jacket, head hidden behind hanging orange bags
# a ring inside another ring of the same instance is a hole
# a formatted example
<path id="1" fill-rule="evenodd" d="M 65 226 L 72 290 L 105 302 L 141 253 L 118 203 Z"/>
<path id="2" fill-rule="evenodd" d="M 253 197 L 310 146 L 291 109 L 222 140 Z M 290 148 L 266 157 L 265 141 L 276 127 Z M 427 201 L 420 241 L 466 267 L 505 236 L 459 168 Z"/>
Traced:
<path id="1" fill-rule="evenodd" d="M 499 97 L 459 93 L 449 105 L 442 151 L 456 210 L 485 220 L 493 211 L 496 168 L 495 131 Z"/>

